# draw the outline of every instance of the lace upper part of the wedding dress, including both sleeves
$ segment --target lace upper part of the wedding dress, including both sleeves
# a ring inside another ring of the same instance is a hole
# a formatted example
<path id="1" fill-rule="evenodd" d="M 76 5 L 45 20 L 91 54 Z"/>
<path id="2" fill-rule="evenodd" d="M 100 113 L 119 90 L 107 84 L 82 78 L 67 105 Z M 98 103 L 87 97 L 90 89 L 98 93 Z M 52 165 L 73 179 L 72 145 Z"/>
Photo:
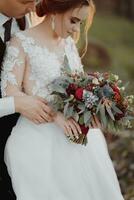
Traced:
<path id="1" fill-rule="evenodd" d="M 83 71 L 80 57 L 71 37 L 64 40 L 63 52 L 51 52 L 38 45 L 33 37 L 19 32 L 7 46 L 2 66 L 2 95 L 37 95 L 49 98 L 50 83 L 61 76 L 63 58 L 67 56 L 74 71 Z M 49 87 L 48 87 L 49 85 Z M 19 91 L 19 92 L 18 92 Z"/>

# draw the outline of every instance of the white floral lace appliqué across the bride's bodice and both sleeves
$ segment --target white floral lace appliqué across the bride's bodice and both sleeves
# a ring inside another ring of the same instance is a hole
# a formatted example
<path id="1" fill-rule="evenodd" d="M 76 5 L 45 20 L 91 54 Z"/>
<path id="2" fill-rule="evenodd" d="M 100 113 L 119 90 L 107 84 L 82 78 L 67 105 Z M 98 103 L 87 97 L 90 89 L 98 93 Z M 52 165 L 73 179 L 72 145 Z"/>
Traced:
<path id="1" fill-rule="evenodd" d="M 65 54 L 68 57 L 72 71 L 83 71 L 76 46 L 73 39 L 70 37 L 65 40 L 65 49 L 63 55 L 59 56 L 59 59 L 57 52 L 50 52 L 46 47 L 37 45 L 32 37 L 26 36 L 22 32 L 17 33 L 15 36 L 20 39 L 24 53 L 27 55 L 30 63 L 30 66 L 28 66 L 30 67 L 29 81 L 34 81 L 34 84 L 32 85 L 33 95 L 38 95 L 44 98 L 50 97 L 49 94 L 51 89 L 49 84 L 61 75 L 61 68 L 63 67 L 61 58 L 62 56 L 64 57 Z M 13 56 L 11 56 L 12 52 L 14 52 Z M 17 84 L 12 69 L 16 64 L 17 66 L 21 64 L 17 59 L 18 55 L 19 50 L 17 48 L 8 48 L 8 53 L 3 65 L 4 72 L 2 75 L 2 91 L 4 95 L 6 95 L 5 88 L 7 87 L 8 79 L 10 83 Z M 12 62 L 13 60 L 14 62 Z M 9 64 L 7 65 L 7 63 Z M 9 76 L 10 78 L 8 78 Z"/>

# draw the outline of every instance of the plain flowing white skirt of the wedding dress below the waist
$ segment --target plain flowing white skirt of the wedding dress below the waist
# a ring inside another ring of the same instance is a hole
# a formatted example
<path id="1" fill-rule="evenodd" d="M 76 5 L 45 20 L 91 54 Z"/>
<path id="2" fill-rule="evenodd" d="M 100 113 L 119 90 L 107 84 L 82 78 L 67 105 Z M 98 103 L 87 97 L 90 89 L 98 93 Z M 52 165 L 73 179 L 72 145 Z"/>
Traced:
<path id="1" fill-rule="evenodd" d="M 54 123 L 20 117 L 5 162 L 17 200 L 123 200 L 99 129 L 89 131 L 85 147 L 70 143 Z"/>

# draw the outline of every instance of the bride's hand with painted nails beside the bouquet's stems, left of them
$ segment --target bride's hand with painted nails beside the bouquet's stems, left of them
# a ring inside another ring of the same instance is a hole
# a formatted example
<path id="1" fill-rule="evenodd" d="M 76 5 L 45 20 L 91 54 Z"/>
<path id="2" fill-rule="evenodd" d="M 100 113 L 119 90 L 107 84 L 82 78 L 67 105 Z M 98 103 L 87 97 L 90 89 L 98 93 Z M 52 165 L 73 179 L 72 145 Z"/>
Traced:
<path id="1" fill-rule="evenodd" d="M 79 135 L 82 134 L 79 124 L 72 118 L 65 119 L 64 115 L 58 112 L 54 121 L 64 130 L 64 133 L 71 140 L 79 138 Z"/>

